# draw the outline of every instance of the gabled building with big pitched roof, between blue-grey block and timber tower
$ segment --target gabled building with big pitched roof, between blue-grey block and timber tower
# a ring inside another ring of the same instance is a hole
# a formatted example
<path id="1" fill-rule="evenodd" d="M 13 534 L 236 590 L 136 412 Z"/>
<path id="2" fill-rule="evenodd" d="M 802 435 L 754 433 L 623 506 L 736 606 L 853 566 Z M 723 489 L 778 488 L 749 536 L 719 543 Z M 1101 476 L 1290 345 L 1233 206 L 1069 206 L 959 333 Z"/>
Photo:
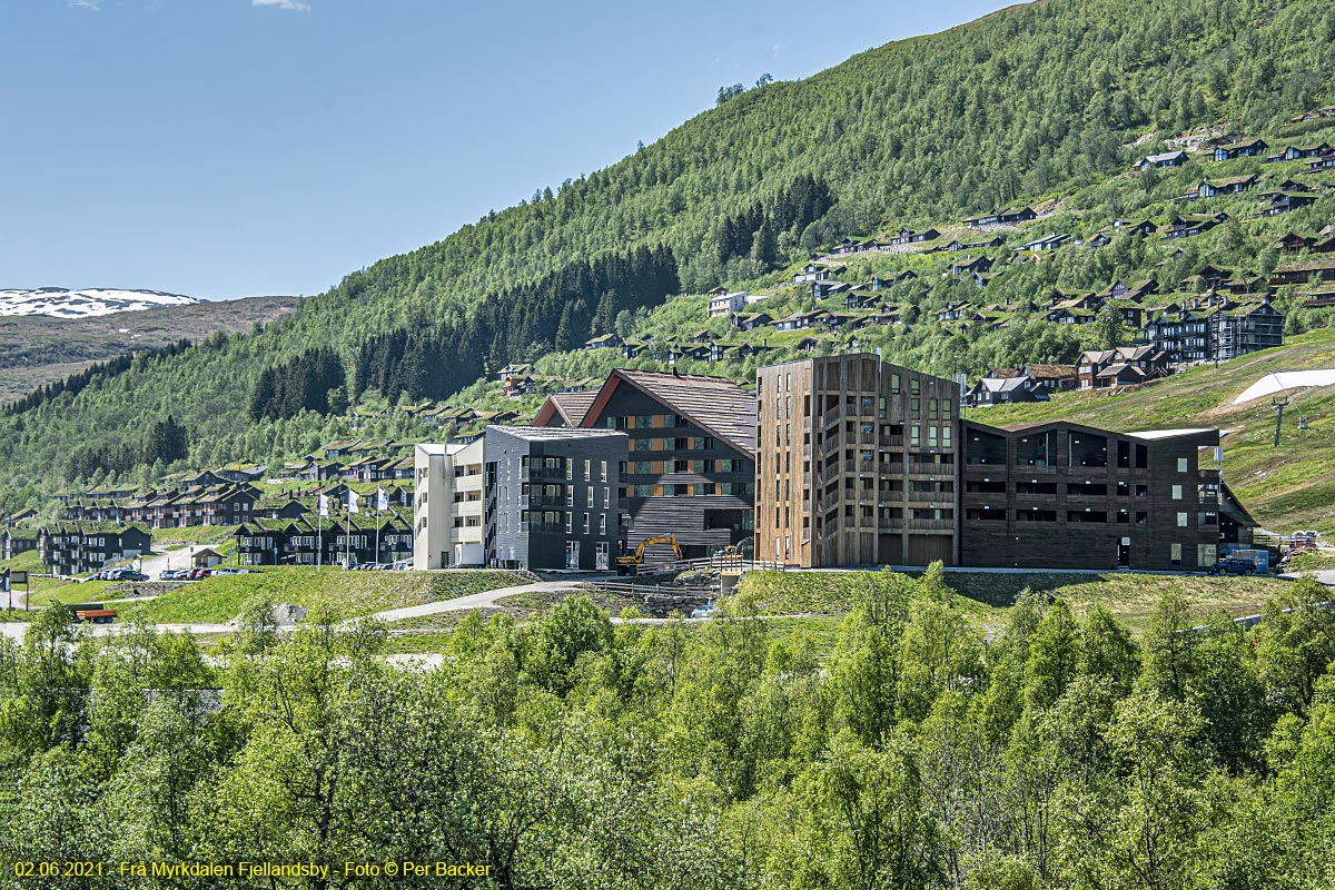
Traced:
<path id="1" fill-rule="evenodd" d="M 618 368 L 587 407 L 553 396 L 535 423 L 629 438 L 626 552 L 673 534 L 700 559 L 753 535 L 756 396 L 732 380 Z"/>

